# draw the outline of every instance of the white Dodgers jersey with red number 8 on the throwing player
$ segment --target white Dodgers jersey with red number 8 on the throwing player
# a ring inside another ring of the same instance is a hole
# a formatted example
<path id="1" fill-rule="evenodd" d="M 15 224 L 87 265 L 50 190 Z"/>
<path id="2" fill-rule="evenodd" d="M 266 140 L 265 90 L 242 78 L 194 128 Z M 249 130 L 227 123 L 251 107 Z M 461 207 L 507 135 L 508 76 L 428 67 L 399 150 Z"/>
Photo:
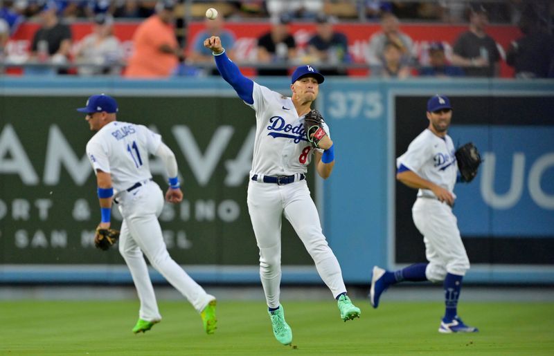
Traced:
<path id="1" fill-rule="evenodd" d="M 292 99 L 254 82 L 256 140 L 251 174 L 290 176 L 306 173 L 313 148 L 307 141 L 304 116 L 298 117 Z M 329 127 L 323 123 L 329 135 Z M 323 152 L 322 149 L 317 149 Z"/>

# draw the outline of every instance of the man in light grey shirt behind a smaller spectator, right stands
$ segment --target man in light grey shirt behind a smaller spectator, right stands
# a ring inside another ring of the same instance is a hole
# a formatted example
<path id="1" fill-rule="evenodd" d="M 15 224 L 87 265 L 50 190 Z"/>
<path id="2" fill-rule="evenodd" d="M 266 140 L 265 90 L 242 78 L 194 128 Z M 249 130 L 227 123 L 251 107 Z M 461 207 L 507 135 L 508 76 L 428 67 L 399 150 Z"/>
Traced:
<path id="1" fill-rule="evenodd" d="M 412 39 L 403 32 L 400 32 L 400 21 L 390 12 L 385 12 L 381 17 L 382 30 L 373 34 L 369 39 L 367 60 L 370 66 L 381 66 L 383 64 L 385 44 L 392 42 L 400 48 L 403 64 L 411 64 Z"/>

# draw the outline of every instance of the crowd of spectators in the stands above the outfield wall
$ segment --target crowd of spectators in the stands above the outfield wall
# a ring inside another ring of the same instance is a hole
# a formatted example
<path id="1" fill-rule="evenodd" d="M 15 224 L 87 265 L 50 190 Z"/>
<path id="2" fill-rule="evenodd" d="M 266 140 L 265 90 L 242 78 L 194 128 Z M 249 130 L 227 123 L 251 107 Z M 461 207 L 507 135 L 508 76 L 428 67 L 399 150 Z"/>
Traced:
<path id="1" fill-rule="evenodd" d="M 328 14 L 336 1 L 226 1 L 227 8 L 215 20 L 204 19 L 204 30 L 195 38 L 179 40 L 175 29 L 176 14 L 186 0 L 26 0 L 0 1 L 0 59 L 10 34 L 22 19 L 31 18 L 40 24 L 30 48 L 25 73 L 67 73 L 70 61 L 77 64 L 79 75 L 116 75 L 127 77 L 169 77 L 171 75 L 217 75 L 209 50 L 203 46 L 206 37 L 222 39 L 230 57 L 234 57 L 235 35 L 225 28 L 225 19 L 270 16 L 267 33 L 256 41 L 258 75 L 287 75 L 291 66 L 311 63 L 321 66 L 325 75 L 346 75 L 352 60 L 348 39 L 334 29 L 339 19 Z M 194 1 L 202 3 L 202 1 Z M 213 4 L 213 1 L 209 2 Z M 379 21 L 380 30 L 368 38 L 366 65 L 373 77 L 497 77 L 502 56 L 487 28 L 491 17 L 515 21 L 522 37 L 506 48 L 506 63 L 515 68 L 515 76 L 554 77 L 554 38 L 548 31 L 548 14 L 541 10 L 544 1 L 503 1 L 476 5 L 467 1 L 413 2 L 352 1 L 355 11 L 364 19 Z M 429 7 L 432 4 L 432 7 Z M 538 5 L 537 5 L 538 4 Z M 205 2 L 202 9 L 206 8 Z M 230 7 L 229 7 L 230 6 Z M 362 8 L 360 8 L 362 7 Z M 514 10 L 517 9 L 517 10 Z M 490 12 L 493 10 L 493 12 Z M 341 10 L 344 12 L 344 9 Z M 245 12 L 240 15 L 240 12 Z M 180 12 L 182 15 L 182 12 Z M 427 14 L 423 16 L 422 14 Z M 72 44 L 67 19 L 88 17 L 92 32 L 78 44 Z M 133 53 L 126 59 L 120 41 L 114 36 L 114 19 L 147 17 L 132 39 Z M 461 21 L 469 26 L 452 44 L 441 41 L 424 43 L 424 54 L 416 56 L 413 39 L 401 30 L 401 17 L 436 18 Z M 291 32 L 292 21 L 316 24 L 306 42 L 298 50 Z M 186 23 L 181 28 L 186 33 Z M 186 41 L 192 44 L 186 50 Z M 55 64 L 54 66 L 52 64 Z M 123 66 L 126 66 L 122 71 Z M 211 66 L 211 67 L 210 67 Z M 207 68 L 204 70 L 204 68 Z"/>

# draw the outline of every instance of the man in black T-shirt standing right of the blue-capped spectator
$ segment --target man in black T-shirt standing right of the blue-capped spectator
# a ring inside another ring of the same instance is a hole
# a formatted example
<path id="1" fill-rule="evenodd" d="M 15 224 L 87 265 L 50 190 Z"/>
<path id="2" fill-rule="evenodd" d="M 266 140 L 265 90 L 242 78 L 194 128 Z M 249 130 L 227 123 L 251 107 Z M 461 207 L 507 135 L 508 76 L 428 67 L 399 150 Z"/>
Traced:
<path id="1" fill-rule="evenodd" d="M 462 66 L 468 77 L 497 77 L 500 53 L 497 43 L 487 35 L 488 17 L 479 6 L 470 14 L 470 29 L 463 32 L 454 44 L 452 64 Z"/>

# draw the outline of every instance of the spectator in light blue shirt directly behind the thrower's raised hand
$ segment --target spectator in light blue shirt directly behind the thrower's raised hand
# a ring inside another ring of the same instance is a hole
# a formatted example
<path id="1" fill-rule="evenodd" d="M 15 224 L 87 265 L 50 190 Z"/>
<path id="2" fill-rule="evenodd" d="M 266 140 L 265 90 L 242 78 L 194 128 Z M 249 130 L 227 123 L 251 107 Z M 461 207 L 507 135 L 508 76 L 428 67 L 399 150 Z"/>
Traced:
<path id="1" fill-rule="evenodd" d="M 233 46 L 235 45 L 235 34 L 224 28 L 225 20 L 222 15 L 215 19 L 204 19 L 205 29 L 198 32 L 194 41 L 193 48 L 188 55 L 190 64 L 209 64 L 213 66 L 213 53 L 208 48 L 204 47 L 204 39 L 211 36 L 218 36 L 221 39 L 222 46 L 229 53 L 229 57 L 233 58 Z M 214 69 L 213 75 L 220 75 L 217 68 Z"/>

